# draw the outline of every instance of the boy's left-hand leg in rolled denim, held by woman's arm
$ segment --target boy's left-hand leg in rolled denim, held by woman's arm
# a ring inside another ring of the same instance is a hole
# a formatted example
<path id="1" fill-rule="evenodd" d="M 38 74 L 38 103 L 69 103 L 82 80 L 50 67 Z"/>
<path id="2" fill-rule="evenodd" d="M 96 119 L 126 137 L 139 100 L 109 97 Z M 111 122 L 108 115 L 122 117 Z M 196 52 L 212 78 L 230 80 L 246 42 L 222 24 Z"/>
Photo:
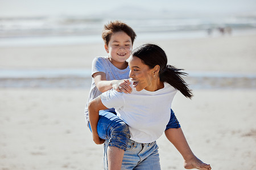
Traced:
<path id="1" fill-rule="evenodd" d="M 108 141 L 105 142 L 105 147 L 108 147 L 108 151 L 104 165 L 108 165 L 109 170 L 120 169 L 123 153 L 126 150 L 127 142 L 130 138 L 128 126 L 121 118 L 116 116 L 114 110 L 110 109 L 100 111 L 97 132 L 100 138 Z M 106 143 L 108 143 L 108 146 L 106 146 Z M 107 168 L 105 167 L 105 169 Z"/>

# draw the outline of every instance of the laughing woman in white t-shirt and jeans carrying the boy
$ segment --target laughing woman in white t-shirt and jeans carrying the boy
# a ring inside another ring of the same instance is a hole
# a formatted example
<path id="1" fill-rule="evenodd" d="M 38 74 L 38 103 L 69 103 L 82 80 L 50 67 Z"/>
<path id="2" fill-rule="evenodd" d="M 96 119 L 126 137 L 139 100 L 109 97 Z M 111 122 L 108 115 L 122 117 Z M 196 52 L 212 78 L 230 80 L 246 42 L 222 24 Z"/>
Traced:
<path id="1" fill-rule="evenodd" d="M 130 94 L 112 89 L 93 99 L 88 105 L 93 140 L 98 144 L 104 142 L 97 132 L 101 126 L 98 124 L 99 112 L 115 108 L 117 116 L 129 126 L 131 137 L 128 141 L 121 139 L 123 144 L 127 143 L 126 151 L 119 150 L 123 155 L 122 164 L 113 169 L 157 170 L 160 169 L 160 161 L 156 139 L 166 131 L 172 100 L 177 90 L 188 98 L 193 95 L 181 78 L 185 73 L 167 65 L 166 53 L 158 45 L 145 44 L 135 49 L 130 57 L 129 67 L 129 76 L 133 82 L 130 84 Z M 183 148 L 183 151 L 195 157 L 187 143 L 183 147 L 187 149 Z M 208 164 L 201 162 L 201 165 L 200 169 L 211 169 Z"/>

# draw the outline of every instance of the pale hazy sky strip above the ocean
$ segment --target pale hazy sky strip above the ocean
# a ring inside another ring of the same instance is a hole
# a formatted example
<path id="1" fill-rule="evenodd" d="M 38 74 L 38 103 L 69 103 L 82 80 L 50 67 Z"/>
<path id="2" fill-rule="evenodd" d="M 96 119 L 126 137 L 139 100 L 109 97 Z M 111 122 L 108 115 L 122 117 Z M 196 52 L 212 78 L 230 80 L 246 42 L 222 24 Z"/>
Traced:
<path id="1" fill-rule="evenodd" d="M 255 0 L 0 0 L 0 17 L 114 14 L 144 10 L 179 14 L 256 14 Z"/>

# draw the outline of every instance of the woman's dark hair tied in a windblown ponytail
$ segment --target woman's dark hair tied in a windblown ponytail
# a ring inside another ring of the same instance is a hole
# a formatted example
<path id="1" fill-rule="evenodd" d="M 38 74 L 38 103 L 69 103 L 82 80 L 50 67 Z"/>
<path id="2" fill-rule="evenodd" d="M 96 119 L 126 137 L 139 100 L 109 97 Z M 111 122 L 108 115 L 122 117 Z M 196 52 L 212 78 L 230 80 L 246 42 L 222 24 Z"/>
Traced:
<path id="1" fill-rule="evenodd" d="M 141 45 L 133 51 L 132 56 L 140 58 L 150 69 L 159 65 L 160 81 L 171 84 L 181 94 L 191 99 L 193 96 L 192 90 L 188 88 L 188 84 L 181 78 L 181 76 L 187 75 L 187 73 L 181 72 L 183 69 L 177 69 L 174 66 L 167 65 L 166 53 L 160 46 L 155 44 Z"/>

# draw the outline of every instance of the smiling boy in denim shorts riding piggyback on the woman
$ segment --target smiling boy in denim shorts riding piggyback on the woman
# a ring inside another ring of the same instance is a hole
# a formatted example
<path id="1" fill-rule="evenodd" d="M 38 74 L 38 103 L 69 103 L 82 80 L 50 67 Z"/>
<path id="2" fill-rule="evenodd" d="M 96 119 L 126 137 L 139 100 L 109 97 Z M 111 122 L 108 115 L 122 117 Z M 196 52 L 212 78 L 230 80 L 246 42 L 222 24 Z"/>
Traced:
<path id="1" fill-rule="evenodd" d="M 102 92 L 114 89 L 118 92 L 130 93 L 131 87 L 129 78 L 129 67 L 126 60 L 130 57 L 130 53 L 133 47 L 136 34 L 132 28 L 122 22 L 110 22 L 105 25 L 105 29 L 102 33 L 102 38 L 105 42 L 106 52 L 109 53 L 107 57 L 96 57 L 92 66 L 92 87 L 88 98 L 88 103 L 100 96 Z M 88 126 L 88 103 L 85 107 L 85 116 Z M 190 150 L 184 134 L 180 128 L 179 121 L 177 121 L 174 112 L 170 109 L 170 121 L 166 127 L 166 137 L 172 142 L 172 144 L 179 150 L 184 158 L 184 166 L 187 168 L 200 168 L 204 167 L 204 163 L 193 155 Z M 118 125 L 118 126 L 117 126 Z M 112 129 L 112 133 L 108 134 Z M 122 155 L 126 150 L 127 141 L 130 138 L 129 128 L 125 122 L 116 116 L 115 109 L 106 109 L 100 111 L 100 118 L 98 120 L 98 135 L 104 140 L 96 141 L 100 144 L 107 140 L 108 148 L 108 165 L 105 164 L 105 168 L 112 169 L 112 166 L 122 163 Z M 107 134 L 107 135 L 106 135 Z M 117 138 L 118 135 L 118 138 Z M 119 140 L 122 136 L 123 141 Z M 117 138 L 115 140 L 115 138 Z M 189 152 L 188 152 L 189 150 Z M 121 154 L 121 156 L 119 156 Z M 118 158 L 118 159 L 115 159 Z"/>

